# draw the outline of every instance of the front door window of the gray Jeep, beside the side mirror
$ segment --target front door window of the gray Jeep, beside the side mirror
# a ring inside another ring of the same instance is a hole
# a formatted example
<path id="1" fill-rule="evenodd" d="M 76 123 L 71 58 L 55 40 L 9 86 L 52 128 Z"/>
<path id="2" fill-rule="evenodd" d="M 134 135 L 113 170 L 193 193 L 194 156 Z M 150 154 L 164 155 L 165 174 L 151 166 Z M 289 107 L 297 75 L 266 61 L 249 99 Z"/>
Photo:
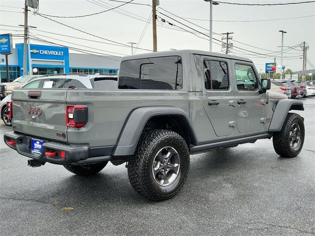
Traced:
<path id="1" fill-rule="evenodd" d="M 236 84 L 238 90 L 256 90 L 257 78 L 251 65 L 235 64 Z"/>

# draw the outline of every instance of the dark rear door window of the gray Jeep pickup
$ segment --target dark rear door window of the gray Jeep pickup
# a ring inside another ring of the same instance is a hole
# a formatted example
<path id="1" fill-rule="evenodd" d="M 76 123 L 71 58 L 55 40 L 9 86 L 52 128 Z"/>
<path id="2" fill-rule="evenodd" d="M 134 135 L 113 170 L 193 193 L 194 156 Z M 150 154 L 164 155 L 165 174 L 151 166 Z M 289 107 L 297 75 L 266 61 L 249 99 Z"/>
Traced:
<path id="1" fill-rule="evenodd" d="M 205 87 L 207 90 L 227 90 L 228 71 L 225 61 L 204 60 L 203 70 L 205 73 Z"/>

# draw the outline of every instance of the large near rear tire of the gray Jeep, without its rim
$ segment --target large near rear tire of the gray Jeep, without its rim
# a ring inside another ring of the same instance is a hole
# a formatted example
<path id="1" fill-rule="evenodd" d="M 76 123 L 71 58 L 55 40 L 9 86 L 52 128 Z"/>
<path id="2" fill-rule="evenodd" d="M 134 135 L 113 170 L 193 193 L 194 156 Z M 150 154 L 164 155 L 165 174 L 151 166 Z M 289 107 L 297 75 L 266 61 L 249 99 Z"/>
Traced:
<path id="1" fill-rule="evenodd" d="M 168 186 L 159 185 L 154 177 L 153 164 L 161 148 L 174 148 L 180 166 L 175 180 Z M 128 161 L 128 177 L 134 190 L 145 198 L 163 201 L 174 197 L 183 187 L 189 172 L 189 149 L 185 140 L 170 130 L 156 129 L 142 133 L 134 155 Z"/>

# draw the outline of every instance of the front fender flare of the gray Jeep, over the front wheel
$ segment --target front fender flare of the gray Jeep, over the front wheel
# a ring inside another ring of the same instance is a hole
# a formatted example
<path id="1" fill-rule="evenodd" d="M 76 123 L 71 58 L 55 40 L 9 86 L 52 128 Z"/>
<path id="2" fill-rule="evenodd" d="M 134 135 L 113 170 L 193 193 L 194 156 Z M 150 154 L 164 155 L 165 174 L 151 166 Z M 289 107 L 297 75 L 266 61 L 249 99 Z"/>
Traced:
<path id="1" fill-rule="evenodd" d="M 288 112 L 291 110 L 304 111 L 303 102 L 291 99 L 280 100 L 275 107 L 269 126 L 269 132 L 279 132 L 284 125 L 284 120 Z"/>

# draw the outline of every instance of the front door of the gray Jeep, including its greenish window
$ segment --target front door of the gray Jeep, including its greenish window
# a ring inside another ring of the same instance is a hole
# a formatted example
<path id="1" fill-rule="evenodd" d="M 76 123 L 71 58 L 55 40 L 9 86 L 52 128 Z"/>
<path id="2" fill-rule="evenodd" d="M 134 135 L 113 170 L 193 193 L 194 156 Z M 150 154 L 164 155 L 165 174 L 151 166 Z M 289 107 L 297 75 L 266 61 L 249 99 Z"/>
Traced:
<path id="1" fill-rule="evenodd" d="M 259 93 L 259 76 L 252 63 L 233 61 L 233 64 L 237 129 L 240 133 L 262 130 L 267 93 Z"/>

